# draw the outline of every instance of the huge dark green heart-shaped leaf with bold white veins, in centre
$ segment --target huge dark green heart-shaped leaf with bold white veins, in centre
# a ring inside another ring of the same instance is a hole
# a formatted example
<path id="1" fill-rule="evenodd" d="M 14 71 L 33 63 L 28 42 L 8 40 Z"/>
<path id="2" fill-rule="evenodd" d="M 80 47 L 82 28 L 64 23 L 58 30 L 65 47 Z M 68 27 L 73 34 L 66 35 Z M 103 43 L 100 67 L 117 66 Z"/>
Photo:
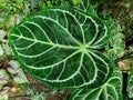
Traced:
<path id="1" fill-rule="evenodd" d="M 99 49 L 109 40 L 105 23 L 74 8 L 51 8 L 9 33 L 17 59 L 37 79 L 55 88 L 104 83 L 114 67 Z"/>

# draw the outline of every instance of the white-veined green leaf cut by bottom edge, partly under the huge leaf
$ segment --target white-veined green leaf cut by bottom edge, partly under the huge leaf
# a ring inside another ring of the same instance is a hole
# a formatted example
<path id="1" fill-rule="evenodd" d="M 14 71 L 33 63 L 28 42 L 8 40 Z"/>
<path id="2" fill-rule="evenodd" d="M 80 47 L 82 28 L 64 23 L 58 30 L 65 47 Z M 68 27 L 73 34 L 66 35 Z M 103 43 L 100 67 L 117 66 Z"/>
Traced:
<path id="1" fill-rule="evenodd" d="M 115 69 L 106 83 L 95 89 L 76 89 L 70 100 L 122 100 L 122 72 Z"/>

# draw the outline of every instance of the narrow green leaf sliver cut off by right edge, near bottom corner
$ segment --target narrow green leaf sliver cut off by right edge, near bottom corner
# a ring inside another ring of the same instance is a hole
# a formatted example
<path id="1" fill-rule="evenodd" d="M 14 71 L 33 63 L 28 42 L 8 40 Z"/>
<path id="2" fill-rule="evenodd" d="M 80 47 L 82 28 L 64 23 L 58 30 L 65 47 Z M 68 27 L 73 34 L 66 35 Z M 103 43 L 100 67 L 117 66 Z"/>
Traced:
<path id="1" fill-rule="evenodd" d="M 129 74 L 126 91 L 127 91 L 129 98 L 133 98 L 133 71 L 131 71 Z"/>

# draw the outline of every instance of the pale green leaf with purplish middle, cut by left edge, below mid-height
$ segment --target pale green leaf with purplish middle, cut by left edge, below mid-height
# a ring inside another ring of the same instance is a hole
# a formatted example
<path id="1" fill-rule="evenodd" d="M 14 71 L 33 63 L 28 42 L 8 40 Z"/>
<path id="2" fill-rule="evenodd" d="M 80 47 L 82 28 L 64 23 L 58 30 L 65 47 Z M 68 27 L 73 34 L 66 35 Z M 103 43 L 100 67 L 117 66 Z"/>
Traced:
<path id="1" fill-rule="evenodd" d="M 9 81 L 9 74 L 7 73 L 7 71 L 4 69 L 0 70 L 0 83 L 1 84 L 6 84 Z"/>

